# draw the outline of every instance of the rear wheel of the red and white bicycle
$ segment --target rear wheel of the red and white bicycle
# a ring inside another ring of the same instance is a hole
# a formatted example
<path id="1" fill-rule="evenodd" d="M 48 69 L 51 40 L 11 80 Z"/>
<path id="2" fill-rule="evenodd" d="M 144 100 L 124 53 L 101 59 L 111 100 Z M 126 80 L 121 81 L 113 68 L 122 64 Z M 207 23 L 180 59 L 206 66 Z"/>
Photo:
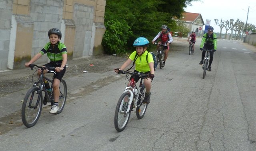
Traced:
<path id="1" fill-rule="evenodd" d="M 146 88 L 145 88 L 145 85 L 144 83 L 142 84 L 141 86 L 142 88 L 140 89 L 140 93 L 142 94 L 139 94 L 139 97 L 138 97 L 138 104 L 140 104 L 144 98 L 145 98 L 145 93 L 146 93 Z M 137 107 L 136 108 L 136 116 L 138 119 L 142 119 L 146 113 L 146 110 L 147 110 L 147 107 L 148 107 L 148 104 L 146 103 L 143 103 L 140 107 Z"/>

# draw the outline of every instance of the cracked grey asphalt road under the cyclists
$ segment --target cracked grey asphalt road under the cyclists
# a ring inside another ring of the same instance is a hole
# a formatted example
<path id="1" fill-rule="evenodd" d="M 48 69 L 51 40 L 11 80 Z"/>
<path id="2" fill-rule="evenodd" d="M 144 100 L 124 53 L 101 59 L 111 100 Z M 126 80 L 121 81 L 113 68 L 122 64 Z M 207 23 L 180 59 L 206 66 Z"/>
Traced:
<path id="1" fill-rule="evenodd" d="M 21 107 L 19 96 L 27 89 L 3 95 L 0 150 L 255 151 L 255 47 L 219 40 L 212 71 L 202 79 L 200 39 L 194 55 L 188 55 L 185 40 L 174 39 L 166 66 L 155 72 L 146 115 L 138 120 L 132 112 L 124 131 L 114 128 L 124 76 L 112 69 L 125 59 L 108 56 L 118 61 L 106 61 L 105 72 L 82 73 L 86 69 L 73 69 L 76 63 L 71 63 L 70 71 L 80 71 L 65 78 L 68 102 L 63 112 L 48 114 L 45 107 L 34 127 L 23 126 L 20 111 L 13 109 Z M 12 108 L 3 106 L 12 103 Z"/>

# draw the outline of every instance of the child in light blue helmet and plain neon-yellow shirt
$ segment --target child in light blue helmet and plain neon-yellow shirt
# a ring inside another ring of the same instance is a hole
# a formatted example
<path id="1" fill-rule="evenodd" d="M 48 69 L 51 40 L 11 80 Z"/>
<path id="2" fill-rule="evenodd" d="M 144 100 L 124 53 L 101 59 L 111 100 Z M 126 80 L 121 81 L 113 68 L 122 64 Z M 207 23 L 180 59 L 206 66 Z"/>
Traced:
<path id="1" fill-rule="evenodd" d="M 151 81 L 154 78 L 154 60 L 151 55 L 151 53 L 148 53 L 147 47 L 149 45 L 148 39 L 144 37 L 138 37 L 134 43 L 133 46 L 136 47 L 136 51 L 134 51 L 130 57 L 127 59 L 124 64 L 117 69 L 114 69 L 116 73 L 118 73 L 121 70 L 124 70 L 128 65 L 130 65 L 135 60 L 135 70 L 134 72 L 143 72 L 145 74 L 148 74 L 148 78 L 144 79 L 144 84 L 146 88 L 146 94 L 143 102 L 149 103 L 150 102 L 150 89 L 151 89 Z M 136 55 L 137 54 L 137 55 Z M 146 55 L 148 55 L 148 60 L 146 58 Z M 137 57 L 136 57 L 137 56 Z M 136 57 L 136 58 L 135 58 Z M 134 76 L 134 79 L 136 82 L 140 79 L 139 76 Z M 130 86 L 130 83 L 128 84 Z"/>

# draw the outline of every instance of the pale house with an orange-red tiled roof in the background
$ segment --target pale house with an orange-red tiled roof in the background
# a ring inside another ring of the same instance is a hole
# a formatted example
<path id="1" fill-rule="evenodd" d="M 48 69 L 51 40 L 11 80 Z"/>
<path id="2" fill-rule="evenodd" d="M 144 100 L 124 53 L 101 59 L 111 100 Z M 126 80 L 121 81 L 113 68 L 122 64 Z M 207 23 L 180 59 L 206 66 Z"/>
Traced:
<path id="1" fill-rule="evenodd" d="M 201 14 L 184 12 L 182 13 L 182 18 L 180 18 L 180 21 L 183 21 L 188 29 L 190 29 L 190 33 L 191 31 L 195 31 L 198 37 L 202 37 L 204 33 L 202 30 L 204 26 L 204 20 Z M 188 36 L 190 33 L 188 33 Z"/>

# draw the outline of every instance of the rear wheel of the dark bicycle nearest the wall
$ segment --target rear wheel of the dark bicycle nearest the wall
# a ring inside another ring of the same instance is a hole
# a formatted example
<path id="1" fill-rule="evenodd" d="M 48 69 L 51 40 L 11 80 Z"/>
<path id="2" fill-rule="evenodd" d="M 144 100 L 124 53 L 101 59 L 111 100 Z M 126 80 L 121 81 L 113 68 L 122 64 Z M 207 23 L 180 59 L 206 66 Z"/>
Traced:
<path id="1" fill-rule="evenodd" d="M 67 84 L 65 80 L 60 81 L 60 98 L 58 102 L 59 110 L 56 112 L 56 114 L 60 114 L 66 104 L 67 99 Z"/>

